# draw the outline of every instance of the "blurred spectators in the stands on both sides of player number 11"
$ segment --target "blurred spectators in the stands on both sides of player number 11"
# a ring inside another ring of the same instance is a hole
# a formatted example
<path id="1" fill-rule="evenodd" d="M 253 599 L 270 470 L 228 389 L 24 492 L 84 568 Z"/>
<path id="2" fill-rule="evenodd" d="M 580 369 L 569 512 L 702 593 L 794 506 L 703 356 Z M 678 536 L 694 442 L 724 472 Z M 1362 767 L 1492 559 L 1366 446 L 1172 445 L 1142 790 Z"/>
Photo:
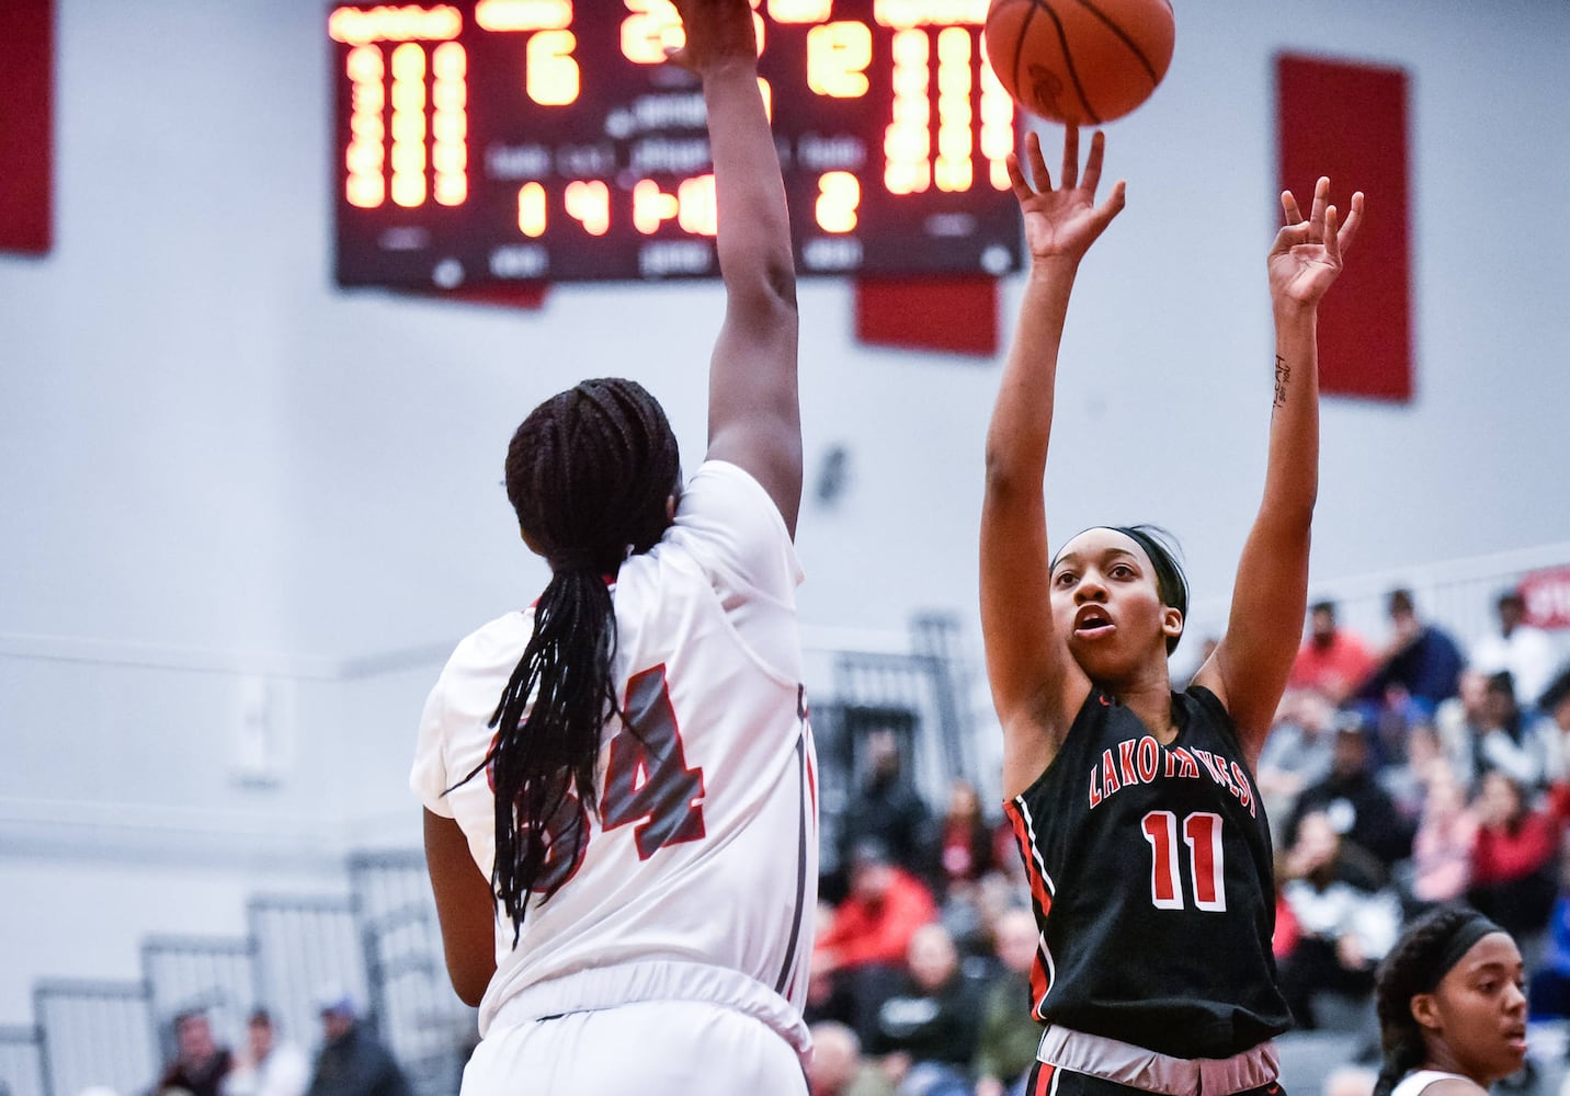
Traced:
<path id="1" fill-rule="evenodd" d="M 1374 1036 L 1378 961 L 1444 901 L 1517 934 L 1535 1017 L 1570 1014 L 1570 661 L 1515 590 L 1495 608 L 1498 628 L 1465 642 L 1393 590 L 1383 645 L 1333 603 L 1309 611 L 1256 773 L 1300 1028 Z M 862 749 L 813 950 L 813 1096 L 1019 1091 L 1038 936 L 1014 837 L 962 779 L 929 809 L 893 735 Z"/>

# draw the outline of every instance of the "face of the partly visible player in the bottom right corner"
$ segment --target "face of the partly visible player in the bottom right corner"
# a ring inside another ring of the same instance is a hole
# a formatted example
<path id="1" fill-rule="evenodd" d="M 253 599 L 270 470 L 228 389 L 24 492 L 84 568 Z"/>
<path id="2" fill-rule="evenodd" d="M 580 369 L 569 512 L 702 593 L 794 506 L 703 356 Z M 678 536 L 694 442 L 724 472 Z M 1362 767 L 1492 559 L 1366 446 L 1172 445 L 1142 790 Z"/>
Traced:
<path id="1" fill-rule="evenodd" d="M 1487 1088 L 1526 1058 L 1521 953 L 1506 933 L 1490 933 L 1462 956 L 1411 1011 L 1455 1072 Z"/>

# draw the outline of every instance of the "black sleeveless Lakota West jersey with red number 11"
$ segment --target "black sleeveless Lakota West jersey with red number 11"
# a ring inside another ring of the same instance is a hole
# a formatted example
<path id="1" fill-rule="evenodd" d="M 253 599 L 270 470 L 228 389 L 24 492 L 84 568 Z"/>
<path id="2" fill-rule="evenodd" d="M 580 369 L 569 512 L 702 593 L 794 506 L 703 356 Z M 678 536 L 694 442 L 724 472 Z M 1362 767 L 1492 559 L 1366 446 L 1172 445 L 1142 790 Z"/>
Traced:
<path id="1" fill-rule="evenodd" d="M 1215 694 L 1173 694 L 1173 722 L 1162 746 L 1093 688 L 1052 763 L 1005 804 L 1042 933 L 1035 1014 L 1226 1058 L 1292 1022 L 1270 950 L 1270 829 Z"/>

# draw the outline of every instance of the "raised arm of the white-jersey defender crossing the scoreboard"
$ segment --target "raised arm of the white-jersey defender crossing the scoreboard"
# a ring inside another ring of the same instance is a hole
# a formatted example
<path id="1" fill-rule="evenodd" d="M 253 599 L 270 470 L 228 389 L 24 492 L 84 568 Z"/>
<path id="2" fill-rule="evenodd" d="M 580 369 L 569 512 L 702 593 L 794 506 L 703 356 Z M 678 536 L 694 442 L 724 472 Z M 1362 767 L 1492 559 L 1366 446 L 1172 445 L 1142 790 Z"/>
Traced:
<path id="1" fill-rule="evenodd" d="M 758 91 L 747 0 L 677 0 L 686 44 L 672 61 L 703 80 L 714 159 L 725 322 L 708 374 L 708 455 L 746 468 L 796 534 L 801 408 L 796 267 L 779 154 Z"/>

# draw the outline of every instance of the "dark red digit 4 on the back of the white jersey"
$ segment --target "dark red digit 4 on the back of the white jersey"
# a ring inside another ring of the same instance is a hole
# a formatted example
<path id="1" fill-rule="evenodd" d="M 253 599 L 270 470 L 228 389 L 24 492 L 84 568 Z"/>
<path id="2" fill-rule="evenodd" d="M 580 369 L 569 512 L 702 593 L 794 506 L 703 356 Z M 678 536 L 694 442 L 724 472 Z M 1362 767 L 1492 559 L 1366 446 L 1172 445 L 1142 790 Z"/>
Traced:
<path id="1" fill-rule="evenodd" d="M 637 856 L 647 860 L 666 845 L 703 837 L 703 769 L 689 769 L 666 667 L 626 683 L 626 724 L 611 740 L 600 799 L 606 832 L 637 823 Z"/>

